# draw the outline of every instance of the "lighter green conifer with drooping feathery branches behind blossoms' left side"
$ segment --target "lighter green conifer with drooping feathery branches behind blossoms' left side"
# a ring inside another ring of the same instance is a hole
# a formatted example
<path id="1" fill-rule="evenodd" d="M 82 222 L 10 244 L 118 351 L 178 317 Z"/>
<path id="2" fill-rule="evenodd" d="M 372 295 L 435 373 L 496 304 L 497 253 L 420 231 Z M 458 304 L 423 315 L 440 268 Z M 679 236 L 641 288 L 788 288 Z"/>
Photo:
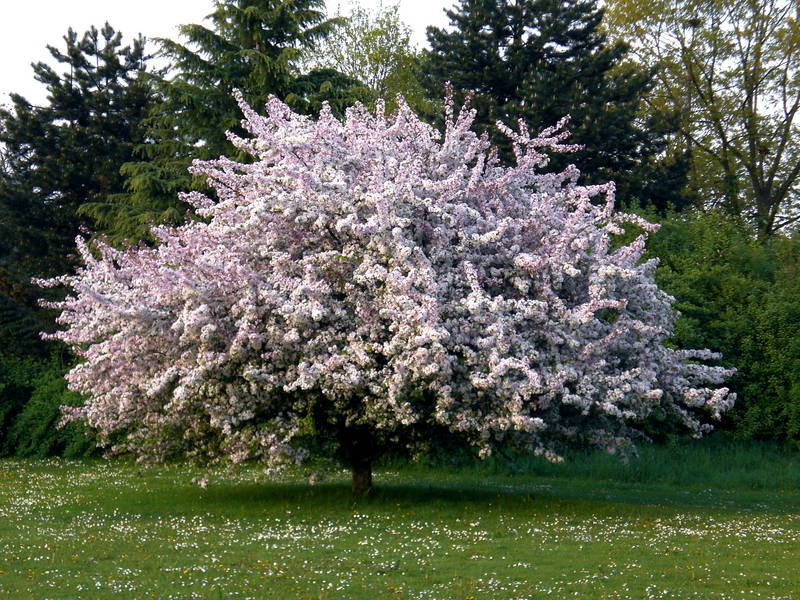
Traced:
<path id="1" fill-rule="evenodd" d="M 147 143 L 139 161 L 123 169 L 126 192 L 91 207 L 117 241 L 146 238 L 153 223 L 182 220 L 187 207 L 178 192 L 203 189 L 187 172 L 191 161 L 234 153 L 225 134 L 243 133 L 234 89 L 256 107 L 275 95 L 313 111 L 323 100 L 341 104 L 353 87 L 339 74 L 298 79 L 300 54 L 338 23 L 325 18 L 323 0 L 216 0 L 207 20 L 208 27 L 182 25 L 182 43 L 158 40 L 170 68 L 154 77 L 161 102 Z"/>

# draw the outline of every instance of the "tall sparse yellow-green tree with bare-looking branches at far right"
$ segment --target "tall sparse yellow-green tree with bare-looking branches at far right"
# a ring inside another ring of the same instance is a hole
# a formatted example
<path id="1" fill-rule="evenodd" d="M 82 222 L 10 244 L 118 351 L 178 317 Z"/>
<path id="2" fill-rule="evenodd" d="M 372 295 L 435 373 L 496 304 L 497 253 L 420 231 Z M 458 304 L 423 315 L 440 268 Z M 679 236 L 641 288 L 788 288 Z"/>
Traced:
<path id="1" fill-rule="evenodd" d="M 652 110 L 682 115 L 703 206 L 762 237 L 792 226 L 800 178 L 800 26 L 793 0 L 614 0 L 616 36 L 657 73 Z"/>

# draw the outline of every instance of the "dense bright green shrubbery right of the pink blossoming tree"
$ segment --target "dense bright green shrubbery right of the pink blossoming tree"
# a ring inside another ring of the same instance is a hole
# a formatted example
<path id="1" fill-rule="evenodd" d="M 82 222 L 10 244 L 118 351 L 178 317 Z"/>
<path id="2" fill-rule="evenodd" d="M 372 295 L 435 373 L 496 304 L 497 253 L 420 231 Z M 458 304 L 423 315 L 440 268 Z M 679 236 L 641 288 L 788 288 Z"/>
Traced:
<path id="1" fill-rule="evenodd" d="M 682 313 L 675 343 L 722 352 L 737 369 L 725 425 L 800 444 L 800 240 L 759 243 L 745 224 L 711 213 L 665 221 L 649 248 Z"/>

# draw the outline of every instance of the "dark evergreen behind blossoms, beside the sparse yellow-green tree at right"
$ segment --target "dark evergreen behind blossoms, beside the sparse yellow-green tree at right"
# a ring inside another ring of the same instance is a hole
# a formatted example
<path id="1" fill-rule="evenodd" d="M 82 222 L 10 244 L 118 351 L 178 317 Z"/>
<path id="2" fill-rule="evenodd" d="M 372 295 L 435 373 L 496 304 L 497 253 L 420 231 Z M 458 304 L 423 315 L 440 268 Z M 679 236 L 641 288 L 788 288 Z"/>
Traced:
<path id="1" fill-rule="evenodd" d="M 657 164 L 669 120 L 638 119 L 651 75 L 625 62 L 623 43 L 607 41 L 595 0 L 459 0 L 447 15 L 448 29 L 428 28 L 428 92 L 440 96 L 450 81 L 461 98 L 472 94 L 479 125 L 506 160 L 509 143 L 491 133 L 496 121 L 523 119 L 536 131 L 570 115 L 570 141 L 584 148 L 555 166 L 575 162 L 587 183 L 615 181 L 623 202 L 682 203 L 674 188 L 656 187 L 685 171 L 680 161 Z"/>

